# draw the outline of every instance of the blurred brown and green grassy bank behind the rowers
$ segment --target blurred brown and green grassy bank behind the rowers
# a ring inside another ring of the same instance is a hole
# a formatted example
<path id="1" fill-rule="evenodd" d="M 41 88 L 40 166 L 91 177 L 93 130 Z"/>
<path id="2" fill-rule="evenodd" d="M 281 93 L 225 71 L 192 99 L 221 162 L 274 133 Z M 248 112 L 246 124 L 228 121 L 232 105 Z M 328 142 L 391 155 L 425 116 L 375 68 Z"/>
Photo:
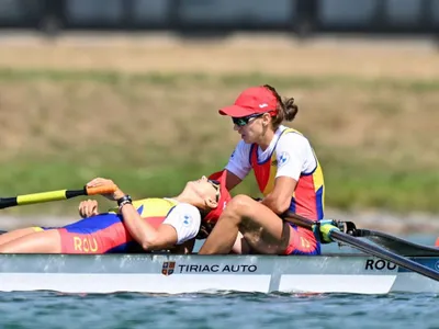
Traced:
<path id="1" fill-rule="evenodd" d="M 328 206 L 439 209 L 439 80 L 351 76 L 1 69 L 0 193 L 77 188 L 102 175 L 134 196 L 173 195 L 226 163 L 238 135 L 216 109 L 260 83 L 295 97 L 292 126 L 319 156 Z M 252 178 L 237 192 L 255 195 Z"/>

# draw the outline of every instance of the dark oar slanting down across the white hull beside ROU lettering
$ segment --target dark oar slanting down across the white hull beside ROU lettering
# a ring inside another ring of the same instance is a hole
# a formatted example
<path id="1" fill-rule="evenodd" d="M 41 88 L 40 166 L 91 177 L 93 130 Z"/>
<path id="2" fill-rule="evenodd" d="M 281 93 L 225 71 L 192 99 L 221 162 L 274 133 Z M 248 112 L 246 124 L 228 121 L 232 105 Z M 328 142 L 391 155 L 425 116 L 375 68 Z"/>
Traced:
<path id="1" fill-rule="evenodd" d="M 305 218 L 305 217 L 294 214 L 292 212 L 288 212 L 285 214 L 285 216 L 283 217 L 283 219 L 285 222 L 308 228 L 311 230 L 313 230 L 313 227 L 315 225 L 318 225 L 318 222 L 311 220 L 308 218 Z M 401 254 L 391 252 L 379 246 L 373 246 L 371 243 L 368 243 L 365 241 L 362 241 L 356 237 L 352 237 L 348 234 L 345 234 L 345 232 L 338 231 L 338 230 L 333 230 L 330 232 L 329 237 L 335 241 L 344 242 L 344 243 L 351 246 L 353 248 L 357 248 L 365 253 L 369 253 L 369 254 L 378 257 L 378 258 L 382 258 L 382 259 L 393 262 L 402 268 L 405 268 L 405 269 L 416 272 L 418 274 L 425 275 L 432 280 L 439 281 L 439 272 L 436 272 L 436 271 L 434 271 L 423 264 L 419 264 L 408 258 L 402 257 Z"/>

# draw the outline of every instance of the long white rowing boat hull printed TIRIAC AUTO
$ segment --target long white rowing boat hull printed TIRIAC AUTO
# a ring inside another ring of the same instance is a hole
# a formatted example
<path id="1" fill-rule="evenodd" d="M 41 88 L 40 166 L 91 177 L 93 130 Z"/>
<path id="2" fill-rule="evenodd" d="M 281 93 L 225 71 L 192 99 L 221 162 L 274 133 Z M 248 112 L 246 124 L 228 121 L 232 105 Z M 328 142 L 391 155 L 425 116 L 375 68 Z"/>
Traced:
<path id="1" fill-rule="evenodd" d="M 438 257 L 412 258 L 439 270 Z M 0 291 L 439 293 L 439 282 L 365 254 L 0 254 Z"/>

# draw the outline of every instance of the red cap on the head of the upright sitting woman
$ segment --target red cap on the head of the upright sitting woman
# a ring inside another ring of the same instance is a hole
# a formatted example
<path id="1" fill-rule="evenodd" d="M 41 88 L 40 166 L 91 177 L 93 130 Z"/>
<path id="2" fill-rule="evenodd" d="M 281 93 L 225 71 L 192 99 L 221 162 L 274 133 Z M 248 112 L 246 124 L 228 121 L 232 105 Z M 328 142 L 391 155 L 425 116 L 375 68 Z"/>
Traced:
<path id="1" fill-rule="evenodd" d="M 234 105 L 221 109 L 221 115 L 243 117 L 251 114 L 270 112 L 275 115 L 278 100 L 273 92 L 263 86 L 250 87 L 243 91 Z"/>

